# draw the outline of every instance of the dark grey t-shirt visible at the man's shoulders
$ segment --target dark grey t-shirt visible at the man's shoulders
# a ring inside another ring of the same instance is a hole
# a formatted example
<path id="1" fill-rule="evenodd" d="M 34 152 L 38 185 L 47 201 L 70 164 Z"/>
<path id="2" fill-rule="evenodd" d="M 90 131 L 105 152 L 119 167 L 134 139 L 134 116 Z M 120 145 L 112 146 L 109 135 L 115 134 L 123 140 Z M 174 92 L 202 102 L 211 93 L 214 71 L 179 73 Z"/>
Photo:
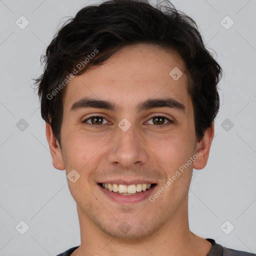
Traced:
<path id="1" fill-rule="evenodd" d="M 256 256 L 254 253 L 223 247 L 211 238 L 206 238 L 206 240 L 212 244 L 206 256 Z M 72 247 L 63 253 L 58 254 L 57 256 L 70 256 L 70 254 L 78 247 L 79 246 Z"/>

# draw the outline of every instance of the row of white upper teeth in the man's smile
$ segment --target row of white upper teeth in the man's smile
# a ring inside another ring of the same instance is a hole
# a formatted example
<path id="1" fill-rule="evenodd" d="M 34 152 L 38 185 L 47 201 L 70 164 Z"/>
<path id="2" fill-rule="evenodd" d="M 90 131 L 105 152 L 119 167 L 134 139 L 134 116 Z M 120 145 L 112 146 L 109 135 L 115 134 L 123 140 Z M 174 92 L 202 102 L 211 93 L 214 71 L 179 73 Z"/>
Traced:
<path id="1" fill-rule="evenodd" d="M 140 191 L 145 191 L 151 187 L 151 184 L 132 184 L 132 185 L 124 185 L 124 184 L 111 184 L 111 183 L 102 183 L 102 186 L 113 192 L 120 193 L 136 193 Z"/>

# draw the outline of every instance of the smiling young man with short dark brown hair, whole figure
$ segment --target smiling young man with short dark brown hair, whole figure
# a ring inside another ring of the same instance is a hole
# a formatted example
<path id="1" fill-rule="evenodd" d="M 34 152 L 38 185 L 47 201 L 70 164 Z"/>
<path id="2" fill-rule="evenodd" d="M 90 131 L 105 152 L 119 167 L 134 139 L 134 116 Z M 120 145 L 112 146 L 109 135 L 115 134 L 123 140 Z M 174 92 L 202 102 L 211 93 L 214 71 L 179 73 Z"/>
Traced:
<path id="1" fill-rule="evenodd" d="M 87 6 L 44 60 L 41 115 L 81 235 L 59 255 L 255 255 L 189 230 L 189 184 L 207 163 L 221 77 L 191 18 L 168 2 Z"/>

